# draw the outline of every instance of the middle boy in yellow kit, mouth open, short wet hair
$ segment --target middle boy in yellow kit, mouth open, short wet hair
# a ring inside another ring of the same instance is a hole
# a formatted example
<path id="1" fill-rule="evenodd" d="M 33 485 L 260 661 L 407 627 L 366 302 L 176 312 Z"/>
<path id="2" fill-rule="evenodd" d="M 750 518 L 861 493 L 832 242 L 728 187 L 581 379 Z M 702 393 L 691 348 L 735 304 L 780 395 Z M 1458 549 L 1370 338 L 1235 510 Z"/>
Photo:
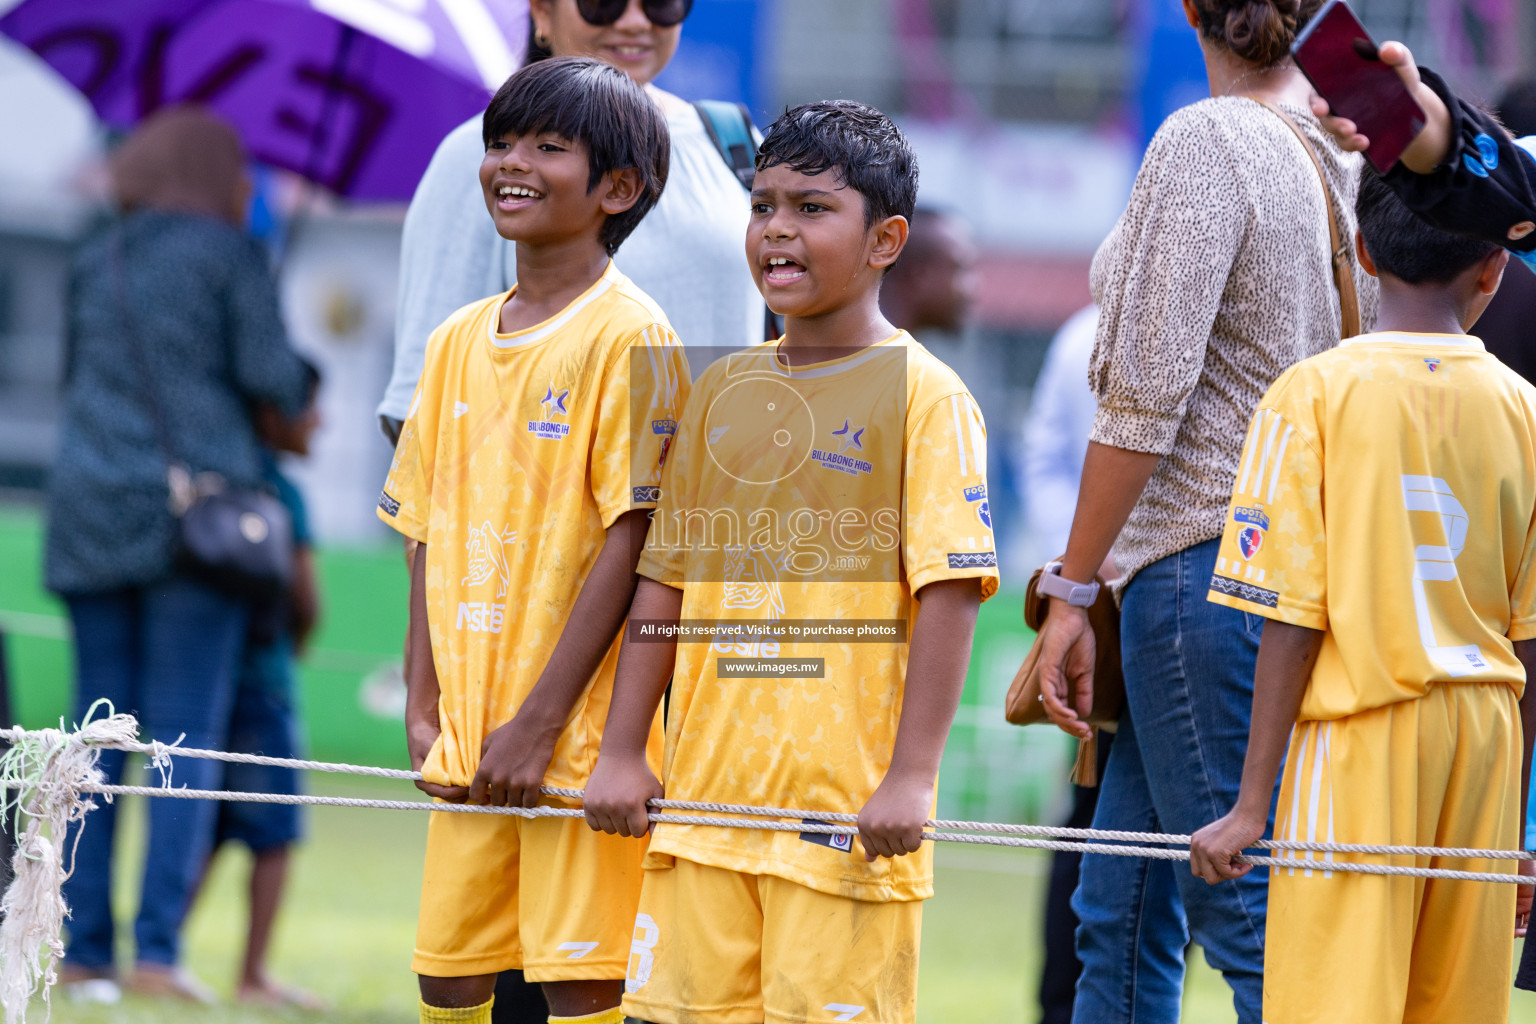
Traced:
<path id="1" fill-rule="evenodd" d="M 866 106 L 800 106 L 763 140 L 746 255 L 785 336 L 714 362 L 679 425 L 587 820 L 645 835 L 671 680 L 667 797 L 851 812 L 859 835 L 657 826 L 633 1018 L 914 1019 L 923 823 L 997 590 L 982 415 L 880 313 L 915 193 Z"/>

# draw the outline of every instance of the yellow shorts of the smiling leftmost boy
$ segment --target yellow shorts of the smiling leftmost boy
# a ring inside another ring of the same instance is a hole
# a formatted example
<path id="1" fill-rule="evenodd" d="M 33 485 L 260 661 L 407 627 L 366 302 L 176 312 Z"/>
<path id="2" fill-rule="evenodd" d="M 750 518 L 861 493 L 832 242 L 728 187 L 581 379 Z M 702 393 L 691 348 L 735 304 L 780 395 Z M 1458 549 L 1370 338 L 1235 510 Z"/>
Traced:
<path id="1" fill-rule="evenodd" d="M 582 818 L 429 817 L 412 970 L 624 976 L 645 840 L 593 832 Z"/>

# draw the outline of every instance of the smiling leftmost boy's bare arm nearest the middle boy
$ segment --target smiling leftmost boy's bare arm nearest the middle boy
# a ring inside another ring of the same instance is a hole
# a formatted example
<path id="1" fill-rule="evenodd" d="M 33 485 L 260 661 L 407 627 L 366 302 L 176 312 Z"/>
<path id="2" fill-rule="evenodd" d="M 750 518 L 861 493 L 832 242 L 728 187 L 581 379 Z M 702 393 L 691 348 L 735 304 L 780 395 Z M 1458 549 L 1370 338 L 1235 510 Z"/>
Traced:
<path id="1" fill-rule="evenodd" d="M 470 783 L 470 803 L 535 808 L 554 743 L 593 672 L 602 663 L 634 596 L 634 565 L 645 547 L 650 511 L 633 510 L 608 527 L 598 560 L 587 574 L 554 652 L 511 722 L 481 746 Z"/>

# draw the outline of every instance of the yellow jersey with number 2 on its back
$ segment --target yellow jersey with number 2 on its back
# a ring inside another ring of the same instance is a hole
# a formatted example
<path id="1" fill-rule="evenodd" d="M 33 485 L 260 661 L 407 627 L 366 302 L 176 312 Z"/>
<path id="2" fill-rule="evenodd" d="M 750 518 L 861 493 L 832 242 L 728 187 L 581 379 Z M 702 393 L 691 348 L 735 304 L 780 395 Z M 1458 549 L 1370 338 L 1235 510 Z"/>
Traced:
<path id="1" fill-rule="evenodd" d="M 1210 600 L 1326 629 L 1301 720 L 1525 672 L 1536 390 L 1458 335 L 1366 335 L 1260 404 Z"/>

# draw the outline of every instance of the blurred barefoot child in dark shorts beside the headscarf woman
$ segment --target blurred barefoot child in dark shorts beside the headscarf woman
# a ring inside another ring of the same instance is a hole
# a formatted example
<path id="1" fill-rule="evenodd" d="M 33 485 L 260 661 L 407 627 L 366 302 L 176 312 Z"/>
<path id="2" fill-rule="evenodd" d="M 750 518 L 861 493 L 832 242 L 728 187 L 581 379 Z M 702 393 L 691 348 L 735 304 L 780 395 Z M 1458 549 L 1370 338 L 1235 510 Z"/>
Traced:
<path id="1" fill-rule="evenodd" d="M 318 387 L 318 379 L 315 384 Z M 284 418 L 272 405 L 260 405 L 255 418 L 263 444 L 261 476 L 281 499 L 293 524 L 293 586 L 286 597 L 252 611 L 226 749 L 235 754 L 303 757 L 295 662 L 319 620 L 319 586 L 304 496 L 284 476 L 276 454 L 309 454 L 310 438 L 319 428 L 319 407 L 312 390 L 309 407 L 298 419 Z M 235 792 L 296 794 L 298 783 L 298 772 L 286 768 L 224 765 L 224 789 Z M 237 841 L 244 843 L 252 855 L 250 923 L 246 956 L 235 986 L 235 998 L 241 1003 L 324 1009 L 315 996 L 280 986 L 267 973 L 267 949 L 287 886 L 289 854 L 301 837 L 303 818 L 300 808 L 293 804 L 218 804 L 215 852 L 224 843 Z"/>

